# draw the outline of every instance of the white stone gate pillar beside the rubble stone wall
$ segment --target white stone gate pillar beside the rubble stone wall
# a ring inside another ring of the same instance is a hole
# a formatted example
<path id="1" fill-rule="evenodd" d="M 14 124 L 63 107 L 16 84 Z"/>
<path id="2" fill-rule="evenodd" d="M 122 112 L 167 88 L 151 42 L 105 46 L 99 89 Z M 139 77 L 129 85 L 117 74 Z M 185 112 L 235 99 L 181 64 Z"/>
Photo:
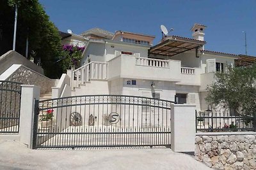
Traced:
<path id="1" fill-rule="evenodd" d="M 174 152 L 195 152 L 195 105 L 172 104 L 171 148 Z"/>

